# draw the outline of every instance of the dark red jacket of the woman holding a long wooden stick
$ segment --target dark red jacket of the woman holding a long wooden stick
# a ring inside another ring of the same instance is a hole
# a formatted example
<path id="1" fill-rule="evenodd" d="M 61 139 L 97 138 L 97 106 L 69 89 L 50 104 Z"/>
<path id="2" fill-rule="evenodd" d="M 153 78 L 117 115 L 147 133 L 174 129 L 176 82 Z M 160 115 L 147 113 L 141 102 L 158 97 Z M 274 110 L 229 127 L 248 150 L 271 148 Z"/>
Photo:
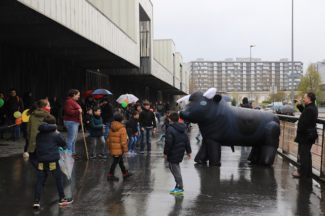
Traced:
<path id="1" fill-rule="evenodd" d="M 72 97 L 68 97 L 63 106 L 63 120 L 77 122 L 80 124 L 81 121 L 79 109 L 81 109 L 81 106 L 77 103 L 77 101 Z"/>

